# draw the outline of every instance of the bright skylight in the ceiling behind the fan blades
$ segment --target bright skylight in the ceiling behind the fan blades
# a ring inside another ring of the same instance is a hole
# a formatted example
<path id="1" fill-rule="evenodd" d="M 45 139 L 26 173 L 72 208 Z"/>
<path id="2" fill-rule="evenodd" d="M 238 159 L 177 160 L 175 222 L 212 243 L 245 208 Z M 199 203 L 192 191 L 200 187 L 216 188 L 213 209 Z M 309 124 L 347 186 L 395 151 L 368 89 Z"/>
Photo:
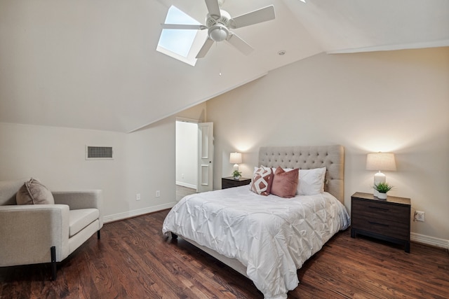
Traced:
<path id="1" fill-rule="evenodd" d="M 175 6 L 168 8 L 166 24 L 201 25 L 201 23 Z M 202 45 L 201 41 L 198 41 L 201 39 L 195 39 L 197 34 L 199 34 L 198 30 L 162 29 L 156 50 L 194 66 L 197 53 L 193 53 L 194 51 L 192 50 L 198 52 L 199 45 Z"/>

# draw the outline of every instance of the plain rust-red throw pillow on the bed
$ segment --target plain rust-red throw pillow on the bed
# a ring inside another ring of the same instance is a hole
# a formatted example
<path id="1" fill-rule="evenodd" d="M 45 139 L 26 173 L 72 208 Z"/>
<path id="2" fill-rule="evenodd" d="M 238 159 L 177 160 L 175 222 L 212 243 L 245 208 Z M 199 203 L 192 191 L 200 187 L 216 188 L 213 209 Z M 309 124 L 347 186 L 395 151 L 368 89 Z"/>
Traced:
<path id="1" fill-rule="evenodd" d="M 281 167 L 276 168 L 271 193 L 284 198 L 295 197 L 299 170 L 286 172 Z"/>

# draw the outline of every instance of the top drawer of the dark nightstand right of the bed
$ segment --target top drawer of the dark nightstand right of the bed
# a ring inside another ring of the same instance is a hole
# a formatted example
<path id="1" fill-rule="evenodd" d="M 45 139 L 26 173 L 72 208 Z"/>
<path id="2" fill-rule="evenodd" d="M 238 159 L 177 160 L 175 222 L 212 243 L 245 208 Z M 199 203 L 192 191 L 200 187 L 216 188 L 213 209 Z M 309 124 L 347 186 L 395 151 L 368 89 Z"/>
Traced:
<path id="1" fill-rule="evenodd" d="M 409 206 L 401 206 L 397 204 L 388 204 L 384 202 L 373 202 L 372 200 L 352 200 L 352 208 L 356 211 L 357 216 L 366 218 L 375 218 L 382 216 L 385 221 L 394 221 L 398 223 L 408 223 L 410 215 Z"/>

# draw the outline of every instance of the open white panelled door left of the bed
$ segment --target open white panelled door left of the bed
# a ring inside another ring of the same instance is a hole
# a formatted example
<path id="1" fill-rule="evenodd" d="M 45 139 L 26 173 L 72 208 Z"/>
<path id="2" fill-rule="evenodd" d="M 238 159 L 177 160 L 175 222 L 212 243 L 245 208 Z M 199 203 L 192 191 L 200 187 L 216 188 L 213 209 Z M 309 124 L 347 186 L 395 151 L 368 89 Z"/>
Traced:
<path id="1" fill-rule="evenodd" d="M 213 123 L 198 124 L 199 193 L 213 190 Z"/>

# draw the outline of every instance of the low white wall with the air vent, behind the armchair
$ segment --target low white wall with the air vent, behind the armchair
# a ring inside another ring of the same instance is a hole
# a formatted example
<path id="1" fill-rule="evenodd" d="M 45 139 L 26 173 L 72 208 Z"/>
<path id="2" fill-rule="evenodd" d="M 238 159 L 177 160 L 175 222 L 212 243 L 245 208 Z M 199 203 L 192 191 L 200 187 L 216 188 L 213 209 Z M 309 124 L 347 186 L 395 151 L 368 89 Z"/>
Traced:
<path id="1" fill-rule="evenodd" d="M 128 210 L 126 134 L 0 123 L 0 145 L 0 180 L 33 176 L 50 190 L 102 189 L 105 215 Z M 86 145 L 112 146 L 114 160 L 86 160 Z"/>

